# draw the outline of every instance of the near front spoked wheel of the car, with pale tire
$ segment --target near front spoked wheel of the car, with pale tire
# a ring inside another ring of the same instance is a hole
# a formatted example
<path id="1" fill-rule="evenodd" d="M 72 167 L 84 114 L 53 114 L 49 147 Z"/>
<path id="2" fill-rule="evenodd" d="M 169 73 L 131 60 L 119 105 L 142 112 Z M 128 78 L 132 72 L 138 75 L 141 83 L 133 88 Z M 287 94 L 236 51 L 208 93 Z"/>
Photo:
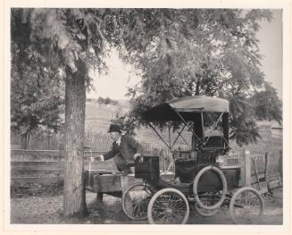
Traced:
<path id="1" fill-rule="evenodd" d="M 152 224 L 183 224 L 188 222 L 187 198 L 177 189 L 162 189 L 154 194 L 148 206 L 148 221 Z"/>

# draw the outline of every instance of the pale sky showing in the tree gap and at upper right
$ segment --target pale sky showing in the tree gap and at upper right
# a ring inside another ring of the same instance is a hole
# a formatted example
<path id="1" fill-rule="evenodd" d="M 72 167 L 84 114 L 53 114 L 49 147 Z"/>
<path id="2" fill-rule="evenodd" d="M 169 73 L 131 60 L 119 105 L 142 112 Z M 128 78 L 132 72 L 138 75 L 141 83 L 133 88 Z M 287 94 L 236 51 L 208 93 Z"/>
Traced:
<path id="1" fill-rule="evenodd" d="M 266 80 L 278 91 L 282 99 L 282 11 L 271 10 L 273 20 L 262 21 L 257 33 L 259 47 L 263 54 L 263 72 Z M 133 67 L 122 63 L 117 52 L 113 52 L 106 60 L 109 66 L 107 75 L 92 74 L 95 91 L 88 93 L 88 98 L 110 97 L 112 99 L 127 99 L 127 87 L 133 87 L 140 80 L 130 71 Z"/>

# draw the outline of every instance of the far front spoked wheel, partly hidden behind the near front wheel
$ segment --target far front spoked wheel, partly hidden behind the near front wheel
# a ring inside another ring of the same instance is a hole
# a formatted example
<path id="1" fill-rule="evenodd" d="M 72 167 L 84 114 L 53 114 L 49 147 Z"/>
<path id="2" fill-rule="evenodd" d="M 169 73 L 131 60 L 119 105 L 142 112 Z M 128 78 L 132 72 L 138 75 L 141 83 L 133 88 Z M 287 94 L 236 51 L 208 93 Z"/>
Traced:
<path id="1" fill-rule="evenodd" d="M 134 183 L 121 197 L 121 206 L 131 220 L 146 220 L 147 206 L 154 189 L 145 183 Z"/>

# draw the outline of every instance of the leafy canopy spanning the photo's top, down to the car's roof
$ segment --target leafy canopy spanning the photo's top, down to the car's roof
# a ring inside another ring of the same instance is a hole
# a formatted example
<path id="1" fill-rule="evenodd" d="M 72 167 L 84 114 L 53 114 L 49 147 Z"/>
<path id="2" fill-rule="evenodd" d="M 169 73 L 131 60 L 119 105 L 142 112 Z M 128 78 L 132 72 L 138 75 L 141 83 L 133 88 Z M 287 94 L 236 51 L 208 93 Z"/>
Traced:
<path id="1" fill-rule="evenodd" d="M 271 95 L 271 89 L 263 86 L 262 55 L 255 37 L 260 29 L 259 22 L 271 21 L 269 10 L 84 8 L 17 11 L 23 29 L 14 30 L 14 34 L 20 36 L 17 37 L 19 42 L 25 41 L 23 46 L 29 47 L 48 67 L 68 66 L 76 71 L 75 62 L 82 59 L 87 61 L 88 71 L 96 67 L 104 71 L 103 55 L 111 46 L 120 50 L 126 62 L 134 63 L 141 71 L 142 83 L 129 90 L 133 102 L 129 113 L 132 122 L 140 120 L 140 114 L 152 105 L 194 95 L 217 95 L 229 99 L 233 103 L 231 106 L 237 106 L 231 108 L 230 125 L 231 132 L 237 133 L 231 137 L 237 138 L 238 143 L 245 142 L 238 134 L 245 128 L 239 128 L 241 122 L 232 112 L 252 115 L 249 124 L 246 123 L 252 140 L 257 137 L 256 128 L 253 128 L 256 127 L 255 118 L 275 118 L 280 122 L 277 95 Z M 30 42 L 23 38 L 29 38 Z M 87 79 L 89 88 L 89 76 Z M 267 96 L 263 92 L 271 95 L 275 105 L 259 105 L 260 97 Z M 243 105 L 255 93 L 261 94 L 253 99 L 257 100 L 257 105 Z M 240 101 L 235 102 L 233 97 Z"/>

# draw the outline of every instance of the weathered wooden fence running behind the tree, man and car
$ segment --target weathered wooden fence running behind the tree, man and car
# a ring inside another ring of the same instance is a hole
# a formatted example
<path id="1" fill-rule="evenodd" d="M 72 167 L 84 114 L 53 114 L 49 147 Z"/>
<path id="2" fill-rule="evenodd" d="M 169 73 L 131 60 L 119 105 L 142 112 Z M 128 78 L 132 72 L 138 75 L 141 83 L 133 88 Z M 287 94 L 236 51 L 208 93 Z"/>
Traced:
<path id="1" fill-rule="evenodd" d="M 172 155 L 168 150 L 157 152 L 160 155 L 160 169 L 167 171 L 171 165 Z M 85 168 L 98 167 L 99 169 L 113 170 L 113 161 L 93 162 L 89 165 L 88 157 L 102 155 L 102 151 L 85 151 Z M 43 183 L 53 184 L 63 180 L 63 152 L 59 150 L 11 150 L 11 180 L 12 183 Z M 23 159 L 29 159 L 23 161 Z M 19 160 L 21 159 L 21 160 Z M 45 160 L 44 160 L 45 159 Z M 229 161 L 239 159 L 241 165 L 242 186 L 252 186 L 262 193 L 269 189 L 282 186 L 282 155 L 274 157 L 251 155 L 245 151 L 243 155 L 229 156 Z"/>

